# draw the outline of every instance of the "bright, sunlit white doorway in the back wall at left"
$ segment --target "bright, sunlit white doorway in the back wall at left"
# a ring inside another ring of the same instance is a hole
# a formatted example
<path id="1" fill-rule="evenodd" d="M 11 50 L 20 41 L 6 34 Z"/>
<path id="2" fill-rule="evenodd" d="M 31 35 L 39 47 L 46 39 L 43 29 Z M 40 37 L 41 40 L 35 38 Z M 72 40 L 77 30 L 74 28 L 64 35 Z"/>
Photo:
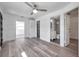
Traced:
<path id="1" fill-rule="evenodd" d="M 16 38 L 24 38 L 24 22 L 16 21 Z"/>

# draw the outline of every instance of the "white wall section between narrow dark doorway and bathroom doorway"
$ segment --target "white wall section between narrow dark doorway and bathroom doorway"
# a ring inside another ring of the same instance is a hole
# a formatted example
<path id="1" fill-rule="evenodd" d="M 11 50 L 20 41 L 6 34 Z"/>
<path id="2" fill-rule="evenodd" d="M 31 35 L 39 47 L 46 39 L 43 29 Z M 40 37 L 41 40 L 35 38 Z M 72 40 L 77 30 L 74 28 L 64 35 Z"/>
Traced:
<path id="1" fill-rule="evenodd" d="M 50 42 L 50 18 L 40 19 L 40 39 Z"/>

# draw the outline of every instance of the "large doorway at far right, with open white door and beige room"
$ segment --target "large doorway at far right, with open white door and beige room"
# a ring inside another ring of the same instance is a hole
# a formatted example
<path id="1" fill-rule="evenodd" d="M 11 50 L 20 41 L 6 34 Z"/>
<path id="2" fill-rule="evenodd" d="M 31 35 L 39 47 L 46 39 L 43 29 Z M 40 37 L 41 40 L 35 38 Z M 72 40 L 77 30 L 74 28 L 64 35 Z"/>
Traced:
<path id="1" fill-rule="evenodd" d="M 78 53 L 78 8 L 65 15 L 65 46 Z"/>

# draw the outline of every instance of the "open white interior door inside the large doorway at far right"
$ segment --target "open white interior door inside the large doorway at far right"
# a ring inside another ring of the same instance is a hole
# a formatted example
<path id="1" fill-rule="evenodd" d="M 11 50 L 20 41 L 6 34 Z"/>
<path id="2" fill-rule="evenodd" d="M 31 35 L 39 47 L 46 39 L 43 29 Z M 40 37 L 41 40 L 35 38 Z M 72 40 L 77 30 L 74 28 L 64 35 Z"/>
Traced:
<path id="1" fill-rule="evenodd" d="M 65 15 L 65 46 L 69 45 L 70 37 L 69 37 L 69 24 L 70 24 L 70 16 Z"/>

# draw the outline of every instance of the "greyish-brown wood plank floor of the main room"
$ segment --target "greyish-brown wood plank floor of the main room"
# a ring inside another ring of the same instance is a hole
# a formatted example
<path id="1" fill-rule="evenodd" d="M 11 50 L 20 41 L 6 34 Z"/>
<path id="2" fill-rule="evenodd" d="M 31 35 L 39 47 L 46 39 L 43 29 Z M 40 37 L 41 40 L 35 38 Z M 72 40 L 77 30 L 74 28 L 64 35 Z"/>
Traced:
<path id="1" fill-rule="evenodd" d="M 23 53 L 23 54 L 22 54 Z M 20 38 L 5 42 L 0 57 L 75 57 L 77 52 L 67 47 L 60 47 L 40 39 Z"/>

